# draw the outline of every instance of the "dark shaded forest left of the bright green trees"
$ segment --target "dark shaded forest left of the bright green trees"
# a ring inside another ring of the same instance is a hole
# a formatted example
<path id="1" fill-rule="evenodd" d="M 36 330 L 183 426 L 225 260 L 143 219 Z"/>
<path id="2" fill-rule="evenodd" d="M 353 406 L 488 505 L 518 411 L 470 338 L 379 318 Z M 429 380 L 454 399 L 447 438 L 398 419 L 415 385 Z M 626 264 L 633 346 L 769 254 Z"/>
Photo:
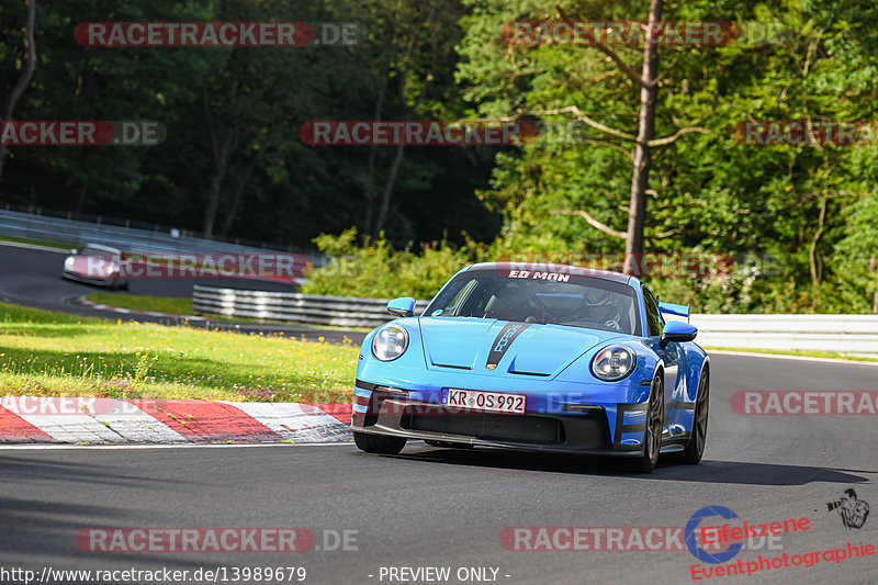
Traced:
<path id="1" fill-rule="evenodd" d="M 0 102 L 19 75 L 23 7 L 0 0 Z M 402 98 L 395 81 L 389 88 L 382 120 L 413 115 L 416 102 L 416 117 L 463 115 L 453 82 L 462 11 L 457 0 L 426 8 L 418 0 L 40 2 L 38 63 L 16 117 L 155 120 L 168 137 L 154 147 L 9 147 L 0 201 L 193 232 L 212 224 L 216 235 L 294 248 L 323 232 L 362 230 L 393 149 L 309 147 L 300 127 L 374 119 L 389 70 L 407 77 Z M 326 47 L 79 46 L 74 29 L 89 21 L 353 22 L 367 34 L 358 45 Z M 498 215 L 472 196 L 487 187 L 493 153 L 440 150 L 406 149 L 385 222 L 390 240 L 448 232 L 462 243 L 462 229 L 491 239 L 499 228 Z"/>

